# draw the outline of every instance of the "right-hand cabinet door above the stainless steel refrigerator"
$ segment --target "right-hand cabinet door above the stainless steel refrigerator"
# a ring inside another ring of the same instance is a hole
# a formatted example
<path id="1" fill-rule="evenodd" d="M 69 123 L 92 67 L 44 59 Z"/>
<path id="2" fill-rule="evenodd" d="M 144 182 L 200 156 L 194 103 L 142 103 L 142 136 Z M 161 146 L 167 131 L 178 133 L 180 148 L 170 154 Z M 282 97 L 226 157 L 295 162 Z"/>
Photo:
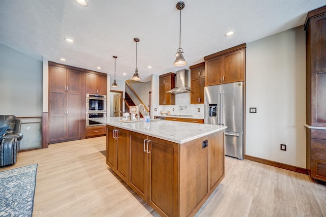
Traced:
<path id="1" fill-rule="evenodd" d="M 244 79 L 244 49 L 223 56 L 222 81 L 226 83 L 243 81 Z"/>

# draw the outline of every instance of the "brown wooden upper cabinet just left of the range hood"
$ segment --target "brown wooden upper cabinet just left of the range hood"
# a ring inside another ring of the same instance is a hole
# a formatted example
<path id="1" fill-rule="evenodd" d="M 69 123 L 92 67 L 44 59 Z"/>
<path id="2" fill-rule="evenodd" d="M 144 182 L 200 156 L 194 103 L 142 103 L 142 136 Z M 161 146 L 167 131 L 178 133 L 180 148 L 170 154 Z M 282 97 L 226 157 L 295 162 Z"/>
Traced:
<path id="1" fill-rule="evenodd" d="M 175 87 L 175 74 L 170 72 L 159 76 L 159 105 L 175 105 L 175 95 L 167 93 Z"/>

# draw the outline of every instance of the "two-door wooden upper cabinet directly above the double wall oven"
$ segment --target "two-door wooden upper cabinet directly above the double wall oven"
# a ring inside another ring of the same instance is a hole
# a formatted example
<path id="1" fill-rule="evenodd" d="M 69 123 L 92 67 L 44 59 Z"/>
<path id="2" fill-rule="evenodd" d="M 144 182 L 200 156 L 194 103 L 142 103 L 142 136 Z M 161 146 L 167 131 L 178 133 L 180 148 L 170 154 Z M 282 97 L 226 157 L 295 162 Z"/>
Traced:
<path id="1" fill-rule="evenodd" d="M 86 94 L 106 95 L 106 76 L 86 73 Z"/>

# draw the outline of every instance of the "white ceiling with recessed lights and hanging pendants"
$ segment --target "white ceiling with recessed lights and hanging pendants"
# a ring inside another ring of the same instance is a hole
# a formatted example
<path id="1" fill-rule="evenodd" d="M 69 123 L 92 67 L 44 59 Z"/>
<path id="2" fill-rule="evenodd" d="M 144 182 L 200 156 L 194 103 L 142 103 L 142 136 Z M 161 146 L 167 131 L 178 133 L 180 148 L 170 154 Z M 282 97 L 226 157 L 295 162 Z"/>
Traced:
<path id="1" fill-rule="evenodd" d="M 129 79 L 135 70 L 142 81 L 151 74 L 176 72 L 179 47 L 178 0 L 0 0 L 0 43 L 42 60 Z M 325 0 L 185 0 L 181 11 L 181 47 L 188 64 L 242 43 L 303 25 L 307 12 Z M 230 30 L 235 35 L 225 37 Z M 64 41 L 66 37 L 74 43 Z M 64 57 L 66 62 L 59 58 Z M 101 70 L 96 67 L 100 66 Z M 152 66 L 152 69 L 148 69 Z M 126 73 L 123 76 L 122 73 Z"/>

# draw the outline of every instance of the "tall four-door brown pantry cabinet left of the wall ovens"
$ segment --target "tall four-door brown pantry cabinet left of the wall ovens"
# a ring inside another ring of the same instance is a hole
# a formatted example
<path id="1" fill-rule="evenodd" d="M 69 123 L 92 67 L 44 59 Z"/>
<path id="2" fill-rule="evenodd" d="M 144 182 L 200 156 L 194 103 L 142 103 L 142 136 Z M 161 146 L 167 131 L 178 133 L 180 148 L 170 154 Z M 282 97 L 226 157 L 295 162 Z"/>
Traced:
<path id="1" fill-rule="evenodd" d="M 49 66 L 49 143 L 80 139 L 80 74 Z"/>

